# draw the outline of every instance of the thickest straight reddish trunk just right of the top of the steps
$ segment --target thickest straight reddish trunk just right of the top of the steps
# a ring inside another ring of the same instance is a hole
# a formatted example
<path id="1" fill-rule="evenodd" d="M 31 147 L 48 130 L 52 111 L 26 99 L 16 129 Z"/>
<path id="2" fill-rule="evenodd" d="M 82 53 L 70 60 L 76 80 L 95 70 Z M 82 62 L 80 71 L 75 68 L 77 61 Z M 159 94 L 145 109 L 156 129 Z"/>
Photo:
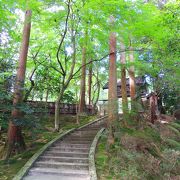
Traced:
<path id="1" fill-rule="evenodd" d="M 116 34 L 111 32 L 109 39 L 109 91 L 108 91 L 108 145 L 114 144 L 114 122 L 118 118 L 117 69 L 116 69 Z"/>

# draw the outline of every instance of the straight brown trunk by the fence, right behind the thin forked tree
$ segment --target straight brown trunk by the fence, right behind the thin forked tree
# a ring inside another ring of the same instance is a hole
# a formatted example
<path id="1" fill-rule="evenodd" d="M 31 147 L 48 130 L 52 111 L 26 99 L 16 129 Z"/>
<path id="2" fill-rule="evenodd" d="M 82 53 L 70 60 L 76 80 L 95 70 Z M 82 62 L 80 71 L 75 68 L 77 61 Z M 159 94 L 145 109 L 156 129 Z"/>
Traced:
<path id="1" fill-rule="evenodd" d="M 86 47 L 82 49 L 82 72 L 81 72 L 81 89 L 80 89 L 80 101 L 79 101 L 79 113 L 85 112 L 85 92 L 86 92 Z"/>

